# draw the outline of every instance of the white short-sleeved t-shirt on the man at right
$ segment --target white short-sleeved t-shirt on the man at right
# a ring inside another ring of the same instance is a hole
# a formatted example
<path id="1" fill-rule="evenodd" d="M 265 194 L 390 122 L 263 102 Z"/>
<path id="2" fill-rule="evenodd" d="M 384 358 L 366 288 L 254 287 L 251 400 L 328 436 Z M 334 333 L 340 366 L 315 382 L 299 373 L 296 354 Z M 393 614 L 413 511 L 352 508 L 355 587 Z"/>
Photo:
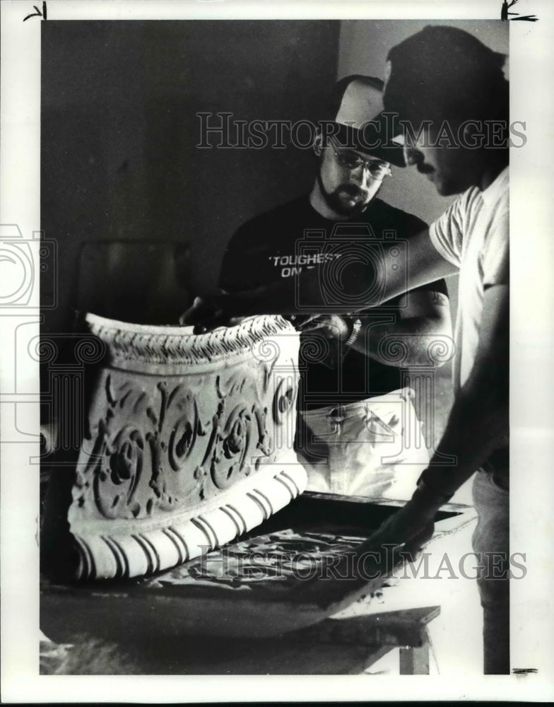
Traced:
<path id="1" fill-rule="evenodd" d="M 471 187 L 429 228 L 440 255 L 460 270 L 454 387 L 473 366 L 483 310 L 491 285 L 509 284 L 509 176 L 505 168 L 483 192 Z"/>

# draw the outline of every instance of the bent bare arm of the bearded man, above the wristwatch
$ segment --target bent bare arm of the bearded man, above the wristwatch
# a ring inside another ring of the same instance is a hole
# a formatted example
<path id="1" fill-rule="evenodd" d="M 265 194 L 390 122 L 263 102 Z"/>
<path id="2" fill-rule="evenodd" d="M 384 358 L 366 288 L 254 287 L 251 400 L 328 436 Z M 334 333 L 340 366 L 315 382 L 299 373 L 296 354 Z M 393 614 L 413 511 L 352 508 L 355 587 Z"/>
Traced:
<path id="1" fill-rule="evenodd" d="M 454 353 L 449 300 L 442 292 L 416 291 L 399 300 L 393 321 L 376 322 L 372 315 L 352 348 L 387 366 L 442 366 Z"/>

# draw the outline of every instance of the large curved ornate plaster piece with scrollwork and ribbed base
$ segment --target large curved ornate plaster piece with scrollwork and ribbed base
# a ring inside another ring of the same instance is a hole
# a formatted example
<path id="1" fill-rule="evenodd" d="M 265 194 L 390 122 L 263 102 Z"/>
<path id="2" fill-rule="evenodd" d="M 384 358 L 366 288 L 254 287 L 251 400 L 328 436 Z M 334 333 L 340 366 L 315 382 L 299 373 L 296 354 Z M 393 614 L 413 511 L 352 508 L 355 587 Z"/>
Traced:
<path id="1" fill-rule="evenodd" d="M 292 325 L 252 317 L 194 336 L 95 315 L 86 324 L 106 353 L 66 509 L 71 578 L 170 568 L 304 491 Z"/>

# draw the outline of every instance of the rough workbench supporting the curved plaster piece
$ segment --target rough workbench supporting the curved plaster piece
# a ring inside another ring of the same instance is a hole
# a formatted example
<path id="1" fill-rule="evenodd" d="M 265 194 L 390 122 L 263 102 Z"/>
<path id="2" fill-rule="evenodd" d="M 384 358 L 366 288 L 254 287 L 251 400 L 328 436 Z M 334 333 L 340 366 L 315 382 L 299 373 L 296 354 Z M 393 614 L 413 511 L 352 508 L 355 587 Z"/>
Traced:
<path id="1" fill-rule="evenodd" d="M 370 534 L 401 505 L 305 494 L 256 532 L 317 528 L 323 520 L 328 527 L 332 518 L 337 532 L 365 523 Z M 445 506 L 435 519 L 437 536 L 474 517 L 468 506 Z M 387 610 L 387 591 L 394 593 L 394 587 L 381 589 L 384 578 L 355 588 L 342 588 L 337 580 L 328 583 L 330 598 L 312 602 L 309 594 L 282 591 L 268 598 L 262 590 L 249 595 L 217 583 L 190 588 L 176 576 L 163 573 L 134 585 L 44 580 L 42 631 L 55 643 L 100 638 L 116 645 L 141 674 L 360 674 L 396 648 L 400 674 L 429 672 L 428 625 L 440 607 Z M 375 592 L 382 598 L 375 599 Z"/>

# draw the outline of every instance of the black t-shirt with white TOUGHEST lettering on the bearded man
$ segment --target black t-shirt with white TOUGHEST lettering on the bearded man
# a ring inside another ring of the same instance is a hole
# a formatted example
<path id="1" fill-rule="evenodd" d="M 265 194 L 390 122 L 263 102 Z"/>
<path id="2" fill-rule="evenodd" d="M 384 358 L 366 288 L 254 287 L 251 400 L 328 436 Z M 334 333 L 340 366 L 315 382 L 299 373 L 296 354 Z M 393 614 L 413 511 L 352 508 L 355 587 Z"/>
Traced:
<path id="1" fill-rule="evenodd" d="M 377 198 L 352 221 L 330 221 L 312 207 L 309 197 L 303 196 L 238 228 L 223 257 L 219 284 L 228 292 L 236 292 L 295 276 L 305 268 L 327 268 L 326 279 L 332 291 L 334 286 L 340 288 L 341 277 L 348 276 L 348 258 L 358 261 L 353 262 L 353 267 L 364 261 L 375 265 L 372 254 L 378 252 L 381 244 L 390 247 L 395 241 L 393 245 L 397 245 L 402 262 L 406 242 L 425 228 L 427 224 L 420 218 Z M 417 289 L 447 294 L 444 280 Z M 396 297 L 356 317 L 365 322 L 394 322 L 399 317 L 400 299 Z M 314 341 L 313 335 L 302 334 L 300 409 L 346 404 L 403 385 L 398 366 L 385 366 L 343 345 L 329 358 L 321 344 L 321 336 Z"/>

